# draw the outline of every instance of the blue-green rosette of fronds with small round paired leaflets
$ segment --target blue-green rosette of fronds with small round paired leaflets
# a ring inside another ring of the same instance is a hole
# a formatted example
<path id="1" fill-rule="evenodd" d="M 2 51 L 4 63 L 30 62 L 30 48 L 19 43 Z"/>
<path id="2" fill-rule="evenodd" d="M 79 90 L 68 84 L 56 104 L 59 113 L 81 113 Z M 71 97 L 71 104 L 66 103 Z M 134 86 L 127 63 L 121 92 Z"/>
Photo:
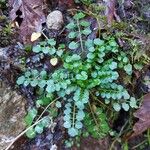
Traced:
<path id="1" fill-rule="evenodd" d="M 72 50 L 79 46 L 87 51 L 86 57 L 62 53 L 60 59 L 63 65 L 54 72 L 48 74 L 44 70 L 29 70 L 17 80 L 19 85 L 38 87 L 47 94 L 60 97 L 60 100 L 55 102 L 55 106 L 57 108 L 64 106 L 64 127 L 72 137 L 78 135 L 83 127 L 87 104 L 95 100 L 89 98 L 91 93 L 95 97 L 101 97 L 106 104 L 111 104 L 116 111 L 120 111 L 121 108 L 125 111 L 128 111 L 130 107 L 137 108 L 135 98 L 130 96 L 124 85 L 118 82 L 120 71 L 128 76 L 132 74 L 132 65 L 128 55 L 119 49 L 112 36 L 83 40 L 83 36 L 90 34 L 90 31 L 85 32 L 85 30 L 90 30 L 90 27 L 89 23 L 83 23 L 84 17 L 85 14 L 78 13 L 74 16 L 74 21 L 67 25 L 69 30 L 77 33 L 70 36 L 73 41 L 66 47 Z M 78 38 L 79 43 L 76 42 Z M 56 47 L 54 39 L 49 41 L 50 48 Z M 45 46 L 42 45 L 43 47 Z M 38 53 L 44 52 L 40 50 Z"/>

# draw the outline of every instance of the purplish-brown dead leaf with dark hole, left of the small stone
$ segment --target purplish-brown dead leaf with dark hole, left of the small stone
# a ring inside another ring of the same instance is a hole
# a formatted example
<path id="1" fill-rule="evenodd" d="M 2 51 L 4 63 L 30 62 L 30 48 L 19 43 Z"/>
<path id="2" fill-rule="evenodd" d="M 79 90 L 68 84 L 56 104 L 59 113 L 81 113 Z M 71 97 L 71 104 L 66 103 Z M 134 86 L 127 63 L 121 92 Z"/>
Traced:
<path id="1" fill-rule="evenodd" d="M 45 22 L 43 13 L 43 0 L 9 0 L 11 7 L 10 18 L 12 21 L 21 21 L 19 34 L 24 43 L 30 43 L 33 32 L 42 30 L 42 23 Z"/>

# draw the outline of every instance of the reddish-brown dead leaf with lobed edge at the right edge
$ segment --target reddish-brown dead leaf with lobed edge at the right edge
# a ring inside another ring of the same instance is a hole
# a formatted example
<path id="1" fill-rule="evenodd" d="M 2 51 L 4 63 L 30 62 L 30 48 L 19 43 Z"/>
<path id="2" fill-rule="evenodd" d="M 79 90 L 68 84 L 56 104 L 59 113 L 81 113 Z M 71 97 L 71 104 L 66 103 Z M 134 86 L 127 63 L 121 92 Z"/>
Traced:
<path id="1" fill-rule="evenodd" d="M 132 136 L 137 136 L 150 128 L 150 93 L 143 97 L 142 106 L 134 113 L 134 116 L 139 121 L 133 127 Z"/>

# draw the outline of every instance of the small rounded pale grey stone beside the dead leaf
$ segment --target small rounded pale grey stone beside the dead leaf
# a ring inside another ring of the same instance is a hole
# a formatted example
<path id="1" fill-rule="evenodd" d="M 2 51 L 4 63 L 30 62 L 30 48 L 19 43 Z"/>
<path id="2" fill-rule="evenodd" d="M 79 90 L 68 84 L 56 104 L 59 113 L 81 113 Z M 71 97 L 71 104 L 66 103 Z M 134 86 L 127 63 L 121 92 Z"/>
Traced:
<path id="1" fill-rule="evenodd" d="M 47 16 L 46 24 L 48 29 L 60 30 L 63 23 L 63 15 L 59 10 L 55 10 Z"/>

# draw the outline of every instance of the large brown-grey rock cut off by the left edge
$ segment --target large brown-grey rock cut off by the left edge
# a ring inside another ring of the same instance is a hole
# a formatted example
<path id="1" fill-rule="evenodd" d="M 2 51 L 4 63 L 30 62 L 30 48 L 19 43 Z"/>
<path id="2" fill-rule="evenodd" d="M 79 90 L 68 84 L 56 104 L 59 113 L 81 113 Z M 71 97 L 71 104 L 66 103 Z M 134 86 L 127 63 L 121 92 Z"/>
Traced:
<path id="1" fill-rule="evenodd" d="M 0 149 L 5 149 L 24 129 L 26 100 L 0 80 Z"/>

